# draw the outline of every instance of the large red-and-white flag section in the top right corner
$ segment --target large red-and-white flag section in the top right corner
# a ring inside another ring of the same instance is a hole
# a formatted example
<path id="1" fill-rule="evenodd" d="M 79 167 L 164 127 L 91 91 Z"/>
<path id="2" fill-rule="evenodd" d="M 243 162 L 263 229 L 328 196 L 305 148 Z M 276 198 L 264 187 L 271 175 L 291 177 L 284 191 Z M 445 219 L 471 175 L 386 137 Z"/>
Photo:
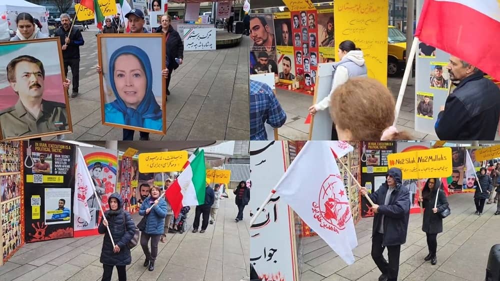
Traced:
<path id="1" fill-rule="evenodd" d="M 425 0 L 415 36 L 500 79 L 498 30 L 498 0 Z"/>

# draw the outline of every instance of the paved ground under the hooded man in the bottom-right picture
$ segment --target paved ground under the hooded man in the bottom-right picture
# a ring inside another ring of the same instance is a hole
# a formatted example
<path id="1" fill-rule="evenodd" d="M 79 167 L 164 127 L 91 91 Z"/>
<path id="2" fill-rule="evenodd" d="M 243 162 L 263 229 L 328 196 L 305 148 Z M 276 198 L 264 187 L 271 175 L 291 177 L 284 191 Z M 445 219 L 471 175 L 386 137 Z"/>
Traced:
<path id="1" fill-rule="evenodd" d="M 406 243 L 401 245 L 399 280 L 454 281 L 484 280 L 489 249 L 498 243 L 500 216 L 493 215 L 496 204 L 485 205 L 482 216 L 473 214 L 471 193 L 448 197 L 451 214 L 443 220 L 443 233 L 437 235 L 437 264 L 424 261 L 428 249 L 421 230 L 420 214 L 411 214 Z M 371 259 L 372 218 L 356 224 L 356 261 L 347 266 L 319 237 L 304 238 L 302 281 L 376 280 L 380 271 Z M 384 252 L 387 258 L 387 251 Z"/>

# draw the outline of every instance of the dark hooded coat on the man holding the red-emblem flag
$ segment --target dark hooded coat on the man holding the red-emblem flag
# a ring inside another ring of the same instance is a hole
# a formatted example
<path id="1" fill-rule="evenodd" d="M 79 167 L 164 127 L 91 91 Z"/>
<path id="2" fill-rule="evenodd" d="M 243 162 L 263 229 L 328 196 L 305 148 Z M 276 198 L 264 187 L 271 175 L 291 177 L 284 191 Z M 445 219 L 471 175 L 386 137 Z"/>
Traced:
<path id="1" fill-rule="evenodd" d="M 379 205 L 378 212 L 373 217 L 372 235 L 380 226 L 383 217 L 383 238 L 384 246 L 400 245 L 406 242 L 406 233 L 408 232 L 409 219 L 409 190 L 401 184 L 401 170 L 399 168 L 390 168 L 387 174 L 396 180 L 396 188 L 389 197 L 389 203 L 385 205 L 385 194 L 389 186 L 387 181 L 370 194 L 373 203 Z"/>

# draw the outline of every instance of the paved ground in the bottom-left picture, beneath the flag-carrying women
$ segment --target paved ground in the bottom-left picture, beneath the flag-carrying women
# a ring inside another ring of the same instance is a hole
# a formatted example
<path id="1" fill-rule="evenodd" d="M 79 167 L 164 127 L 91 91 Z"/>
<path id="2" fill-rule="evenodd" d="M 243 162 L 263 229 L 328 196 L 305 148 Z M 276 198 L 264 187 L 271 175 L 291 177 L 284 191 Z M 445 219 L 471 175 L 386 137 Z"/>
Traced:
<path id="1" fill-rule="evenodd" d="M 220 200 L 216 222 L 205 233 L 192 233 L 194 208 L 189 211 L 188 231 L 167 234 L 159 243 L 154 271 L 142 266 L 140 245 L 132 250 L 127 280 L 234 281 L 249 279 L 248 217 L 234 222 L 233 198 Z M 135 222 L 140 220 L 134 215 Z M 100 280 L 102 235 L 27 243 L 0 266 L 0 280 Z M 113 280 L 117 279 L 116 270 Z"/>

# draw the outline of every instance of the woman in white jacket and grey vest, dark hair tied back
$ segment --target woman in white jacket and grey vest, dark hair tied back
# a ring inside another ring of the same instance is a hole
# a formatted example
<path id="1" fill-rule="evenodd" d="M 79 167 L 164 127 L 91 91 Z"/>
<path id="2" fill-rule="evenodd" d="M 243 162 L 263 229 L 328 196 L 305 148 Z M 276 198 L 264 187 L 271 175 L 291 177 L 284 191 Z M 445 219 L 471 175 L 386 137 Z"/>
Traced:
<path id="1" fill-rule="evenodd" d="M 331 96 L 335 89 L 345 83 L 350 77 L 366 76 L 367 70 L 364 64 L 363 51 L 356 48 L 356 45 L 351 40 L 345 40 L 338 46 L 338 57 L 340 61 L 333 64 L 333 80 L 331 83 L 330 93 L 321 101 L 309 107 L 311 115 L 316 114 L 318 110 L 328 108 Z M 331 127 L 331 139 L 338 140 L 335 124 Z"/>

